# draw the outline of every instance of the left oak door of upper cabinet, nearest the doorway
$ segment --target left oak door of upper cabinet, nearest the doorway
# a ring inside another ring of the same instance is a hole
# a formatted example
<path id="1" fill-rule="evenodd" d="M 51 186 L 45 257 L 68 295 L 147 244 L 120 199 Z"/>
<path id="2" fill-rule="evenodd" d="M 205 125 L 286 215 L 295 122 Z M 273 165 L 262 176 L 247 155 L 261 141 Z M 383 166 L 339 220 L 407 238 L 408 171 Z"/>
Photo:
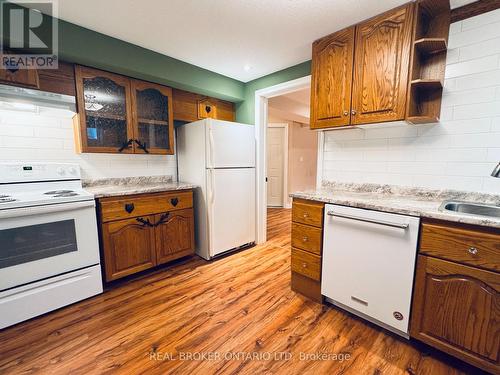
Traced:
<path id="1" fill-rule="evenodd" d="M 313 44 L 312 129 L 350 123 L 354 34 L 353 26 Z"/>

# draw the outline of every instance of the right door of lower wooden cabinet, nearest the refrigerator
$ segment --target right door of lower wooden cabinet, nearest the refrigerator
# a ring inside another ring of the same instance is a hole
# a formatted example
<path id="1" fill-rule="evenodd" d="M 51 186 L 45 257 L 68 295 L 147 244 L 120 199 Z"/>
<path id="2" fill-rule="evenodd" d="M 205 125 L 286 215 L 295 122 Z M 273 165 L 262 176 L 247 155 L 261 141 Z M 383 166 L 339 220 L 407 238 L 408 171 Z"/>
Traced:
<path id="1" fill-rule="evenodd" d="M 194 217 L 192 209 L 156 215 L 155 222 L 161 222 L 155 230 L 158 264 L 193 253 Z"/>

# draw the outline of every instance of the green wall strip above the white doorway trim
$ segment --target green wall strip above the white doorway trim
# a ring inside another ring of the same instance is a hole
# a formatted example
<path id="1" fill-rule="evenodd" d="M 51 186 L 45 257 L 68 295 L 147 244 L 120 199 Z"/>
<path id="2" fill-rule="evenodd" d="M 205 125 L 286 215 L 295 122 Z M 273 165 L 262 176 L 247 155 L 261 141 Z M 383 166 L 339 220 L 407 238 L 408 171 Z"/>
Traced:
<path id="1" fill-rule="evenodd" d="M 306 61 L 245 84 L 244 101 L 236 104 L 236 121 L 255 123 L 255 91 L 311 74 L 311 61 Z"/>

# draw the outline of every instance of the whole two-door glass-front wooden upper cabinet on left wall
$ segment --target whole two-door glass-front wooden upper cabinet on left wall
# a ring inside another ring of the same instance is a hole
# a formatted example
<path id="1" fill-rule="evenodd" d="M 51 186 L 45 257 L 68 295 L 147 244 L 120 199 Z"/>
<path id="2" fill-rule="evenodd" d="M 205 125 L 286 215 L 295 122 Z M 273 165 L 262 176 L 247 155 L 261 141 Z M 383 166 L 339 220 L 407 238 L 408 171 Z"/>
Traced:
<path id="1" fill-rule="evenodd" d="M 173 154 L 172 89 L 75 67 L 79 152 Z"/>

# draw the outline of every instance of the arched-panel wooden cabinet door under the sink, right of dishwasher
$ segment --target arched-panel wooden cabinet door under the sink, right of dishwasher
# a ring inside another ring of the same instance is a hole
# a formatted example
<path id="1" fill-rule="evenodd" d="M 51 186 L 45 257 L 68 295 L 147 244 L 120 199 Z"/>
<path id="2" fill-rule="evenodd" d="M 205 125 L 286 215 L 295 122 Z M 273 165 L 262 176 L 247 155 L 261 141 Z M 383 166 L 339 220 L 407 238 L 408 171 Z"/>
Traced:
<path id="1" fill-rule="evenodd" d="M 500 273 L 421 253 L 410 336 L 500 374 Z"/>

